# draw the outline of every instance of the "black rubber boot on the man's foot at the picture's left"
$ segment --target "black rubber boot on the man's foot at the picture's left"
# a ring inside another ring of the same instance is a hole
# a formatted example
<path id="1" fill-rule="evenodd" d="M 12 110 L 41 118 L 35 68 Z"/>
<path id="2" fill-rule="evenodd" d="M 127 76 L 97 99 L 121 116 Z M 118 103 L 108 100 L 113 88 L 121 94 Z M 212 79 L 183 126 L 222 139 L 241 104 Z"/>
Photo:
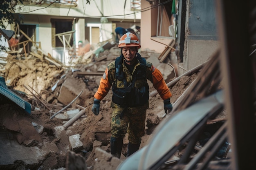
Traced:
<path id="1" fill-rule="evenodd" d="M 123 148 L 123 138 L 110 137 L 111 155 L 120 159 L 122 148 Z"/>

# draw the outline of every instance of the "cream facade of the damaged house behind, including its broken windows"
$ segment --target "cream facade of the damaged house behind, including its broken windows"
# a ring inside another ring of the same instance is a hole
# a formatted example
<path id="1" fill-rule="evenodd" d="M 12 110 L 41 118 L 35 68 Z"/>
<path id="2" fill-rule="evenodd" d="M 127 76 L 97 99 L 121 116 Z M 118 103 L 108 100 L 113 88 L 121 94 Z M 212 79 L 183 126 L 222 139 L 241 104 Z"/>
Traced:
<path id="1" fill-rule="evenodd" d="M 97 48 L 114 38 L 117 26 L 130 28 L 139 25 L 141 19 L 137 0 L 90 0 L 90 4 L 86 0 L 22 2 L 15 11 L 22 18 L 19 29 L 32 41 L 40 42 L 45 53 L 62 61 L 66 49 L 77 47 L 79 41 Z M 10 29 L 15 30 L 16 26 Z M 20 42 L 26 40 L 17 34 Z M 27 45 L 27 51 L 30 50 Z"/>

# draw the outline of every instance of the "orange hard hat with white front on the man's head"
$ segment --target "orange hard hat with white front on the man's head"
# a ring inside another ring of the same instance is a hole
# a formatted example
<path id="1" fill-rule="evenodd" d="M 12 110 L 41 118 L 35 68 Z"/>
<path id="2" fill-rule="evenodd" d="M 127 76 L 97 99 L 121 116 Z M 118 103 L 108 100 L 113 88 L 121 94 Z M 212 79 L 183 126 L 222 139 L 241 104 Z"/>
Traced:
<path id="1" fill-rule="evenodd" d="M 140 48 L 140 43 L 139 43 L 139 39 L 137 38 L 137 36 L 133 33 L 126 33 L 124 35 L 121 36 L 119 43 L 118 43 L 118 47 L 129 47 L 129 46 L 137 46 L 138 49 Z"/>

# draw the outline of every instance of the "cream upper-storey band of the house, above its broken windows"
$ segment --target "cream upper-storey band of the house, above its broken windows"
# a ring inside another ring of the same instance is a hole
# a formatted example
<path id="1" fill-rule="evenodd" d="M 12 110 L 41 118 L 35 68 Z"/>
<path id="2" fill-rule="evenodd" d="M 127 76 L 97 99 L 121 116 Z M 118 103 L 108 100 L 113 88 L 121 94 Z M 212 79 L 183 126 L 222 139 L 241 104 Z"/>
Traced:
<path id="1" fill-rule="evenodd" d="M 136 18 L 137 20 L 140 20 L 141 13 L 136 13 L 135 15 L 133 14 L 134 11 L 130 9 L 130 0 L 126 1 L 125 10 L 124 2 L 125 0 L 91 0 L 90 4 L 86 4 L 85 0 L 78 0 L 78 5 L 76 7 L 70 7 L 69 5 L 64 4 L 61 4 L 60 7 L 54 7 L 56 4 L 49 7 L 47 7 L 49 4 L 27 4 L 20 5 L 20 8 L 17 7 L 16 13 L 29 12 L 28 14 L 101 18 L 102 15 L 100 11 L 102 11 L 103 15 L 108 18 L 131 20 Z M 102 6 L 101 3 L 103 3 Z M 124 16 L 124 14 L 126 16 Z"/>

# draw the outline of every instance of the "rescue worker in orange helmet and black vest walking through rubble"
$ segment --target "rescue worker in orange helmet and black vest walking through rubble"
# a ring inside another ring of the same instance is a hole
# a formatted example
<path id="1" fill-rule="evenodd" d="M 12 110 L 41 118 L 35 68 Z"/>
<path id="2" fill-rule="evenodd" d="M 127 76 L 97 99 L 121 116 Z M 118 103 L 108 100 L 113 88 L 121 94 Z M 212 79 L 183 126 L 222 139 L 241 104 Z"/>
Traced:
<path id="1" fill-rule="evenodd" d="M 162 73 L 138 53 L 141 46 L 137 36 L 130 32 L 122 35 L 118 47 L 121 55 L 107 66 L 94 94 L 92 112 L 99 115 L 100 101 L 112 86 L 110 151 L 120 159 L 126 132 L 129 140 L 126 157 L 139 150 L 144 136 L 146 110 L 149 108 L 147 79 L 164 100 L 165 113 L 173 106 L 170 102 L 172 94 Z"/>

